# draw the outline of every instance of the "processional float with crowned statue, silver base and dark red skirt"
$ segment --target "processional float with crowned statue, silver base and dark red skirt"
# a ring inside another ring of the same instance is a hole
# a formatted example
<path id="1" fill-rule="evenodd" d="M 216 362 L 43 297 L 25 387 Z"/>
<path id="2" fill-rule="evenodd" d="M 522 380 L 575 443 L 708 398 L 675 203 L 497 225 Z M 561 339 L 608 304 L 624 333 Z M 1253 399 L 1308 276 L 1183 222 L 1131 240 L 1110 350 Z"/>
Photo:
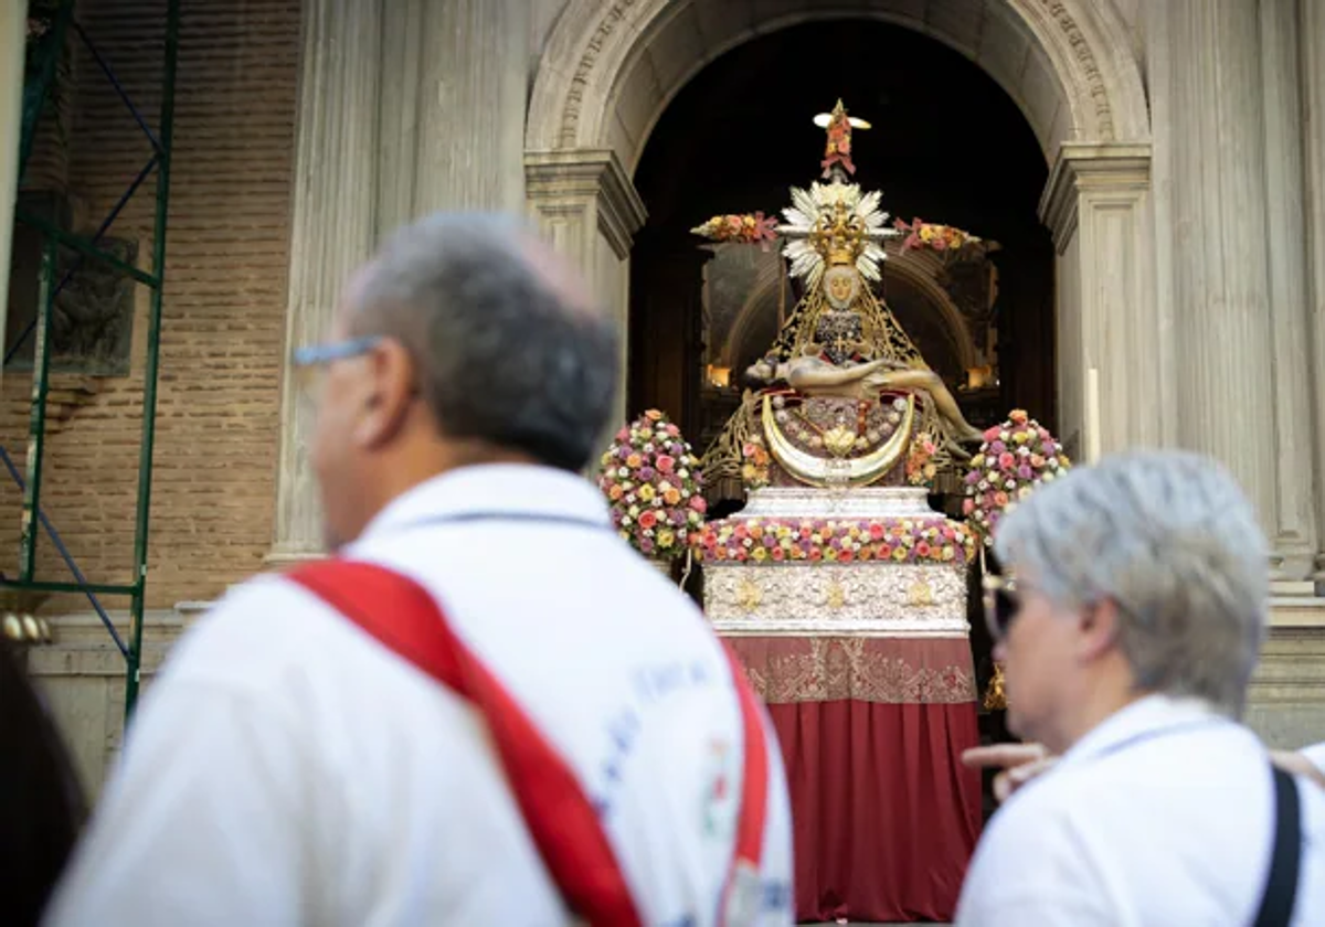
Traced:
<path id="1" fill-rule="evenodd" d="M 796 820 L 800 919 L 951 918 L 979 834 L 979 742 L 969 642 L 970 568 L 988 528 L 1067 465 L 1022 412 L 973 428 L 874 285 L 885 244 L 983 260 L 959 229 L 889 222 L 852 183 L 852 119 L 816 119 L 819 181 L 783 221 L 717 216 L 718 242 L 780 245 L 803 295 L 704 454 L 709 486 L 745 507 L 692 532 L 704 607 L 778 728 Z M 894 246 L 896 250 L 896 246 Z M 943 471 L 966 487 L 955 520 L 929 506 Z M 973 527 L 974 526 L 974 527 Z"/>

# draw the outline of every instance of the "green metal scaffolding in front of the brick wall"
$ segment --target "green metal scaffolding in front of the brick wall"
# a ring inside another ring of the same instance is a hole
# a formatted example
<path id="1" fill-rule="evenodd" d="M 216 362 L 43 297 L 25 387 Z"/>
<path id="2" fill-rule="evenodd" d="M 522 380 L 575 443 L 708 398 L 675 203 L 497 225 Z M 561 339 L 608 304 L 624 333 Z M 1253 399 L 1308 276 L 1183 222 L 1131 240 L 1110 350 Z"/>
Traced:
<path id="1" fill-rule="evenodd" d="M 19 542 L 19 577 L 0 577 L 0 588 L 16 589 L 32 593 L 83 593 L 101 617 L 111 640 L 125 657 L 125 712 L 131 714 L 138 701 L 139 673 L 142 667 L 143 649 L 143 610 L 144 592 L 147 585 L 147 535 L 151 512 L 152 490 L 152 444 L 156 434 L 156 377 L 160 367 L 160 326 L 162 326 L 162 298 L 166 283 L 166 217 L 170 200 L 170 166 L 171 140 L 174 135 L 175 111 L 175 64 L 179 50 L 179 0 L 167 0 L 166 11 L 166 40 L 164 62 L 162 73 L 162 101 L 160 115 L 155 131 L 143 118 L 134 105 L 130 94 L 115 77 L 110 62 L 98 52 L 97 46 L 86 30 L 74 19 L 74 0 L 61 0 L 53 7 L 50 28 L 38 41 L 42 45 L 36 50 L 38 60 L 34 75 L 36 86 L 24 87 L 23 130 L 20 132 L 19 150 L 19 176 L 24 176 L 28 158 L 32 154 L 37 124 L 42 113 L 52 109 L 49 102 L 58 81 L 58 61 L 65 53 L 65 42 L 69 32 L 77 36 L 86 48 L 91 60 L 97 64 L 102 74 L 110 81 L 115 93 L 123 101 L 130 117 L 138 123 L 147 142 L 151 146 L 151 156 L 146 166 L 126 188 L 115 207 L 101 222 L 97 232 L 90 236 L 72 234 L 61 229 L 57 224 L 40 216 L 34 216 L 24 209 L 16 209 L 15 219 L 37 229 L 44 238 L 41 274 L 38 286 L 38 305 L 32 324 L 17 338 L 7 352 L 8 363 L 19 351 L 19 347 L 29 338 L 34 338 L 33 372 L 32 372 L 32 409 L 28 424 L 28 450 L 25 470 L 20 473 L 9 454 L 0 448 L 0 461 L 9 470 L 11 477 L 23 491 L 23 532 Z M 33 4 L 33 8 L 36 4 Z M 29 12 L 30 16 L 30 12 Z M 143 271 L 114 254 L 101 248 L 101 241 L 111 224 L 132 199 L 134 193 L 156 171 L 156 204 L 152 221 L 152 260 L 151 271 Z M 64 246 L 78 258 L 73 268 L 56 279 L 58 249 Z M 147 328 L 147 362 L 143 377 L 143 425 L 138 454 L 138 491 L 134 519 L 134 565 L 132 579 L 125 584 L 89 583 L 69 550 L 65 547 L 50 519 L 41 509 L 41 473 L 46 440 L 46 397 L 50 385 L 50 319 L 56 298 L 61 290 L 83 265 L 85 261 L 98 261 L 115 273 L 129 277 L 151 291 L 151 306 L 148 310 Z M 40 530 L 45 528 L 52 543 L 64 559 L 65 565 L 73 575 L 72 581 L 38 580 L 37 567 L 37 538 Z M 115 629 L 114 622 L 102 607 L 98 596 L 126 596 L 130 601 L 130 626 L 127 642 Z"/>

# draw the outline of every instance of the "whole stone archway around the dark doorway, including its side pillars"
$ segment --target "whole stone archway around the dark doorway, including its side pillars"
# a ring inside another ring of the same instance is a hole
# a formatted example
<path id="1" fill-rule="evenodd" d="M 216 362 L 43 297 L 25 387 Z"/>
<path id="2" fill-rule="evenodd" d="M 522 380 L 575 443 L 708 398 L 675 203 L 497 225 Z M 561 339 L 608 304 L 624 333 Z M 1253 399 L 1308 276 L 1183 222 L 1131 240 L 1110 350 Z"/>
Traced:
<path id="1" fill-rule="evenodd" d="M 571 0 L 526 123 L 529 201 L 603 298 L 627 303 L 631 175 L 672 97 L 704 65 L 807 20 L 908 26 L 979 64 L 1051 166 L 1040 204 L 1059 252 L 1059 418 L 1088 450 L 1161 444 L 1171 367 L 1151 265 L 1150 121 L 1136 54 L 1094 0 Z M 1106 324 L 1108 320 L 1108 324 Z"/>

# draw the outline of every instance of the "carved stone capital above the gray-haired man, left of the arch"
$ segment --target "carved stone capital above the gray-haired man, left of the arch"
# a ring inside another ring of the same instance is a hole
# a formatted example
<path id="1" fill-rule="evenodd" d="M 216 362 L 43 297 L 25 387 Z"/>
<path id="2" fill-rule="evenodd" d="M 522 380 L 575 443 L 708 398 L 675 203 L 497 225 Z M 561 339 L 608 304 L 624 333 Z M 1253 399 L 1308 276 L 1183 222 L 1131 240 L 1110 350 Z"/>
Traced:
<path id="1" fill-rule="evenodd" d="M 592 205 L 598 230 L 623 261 L 648 217 L 616 152 L 606 148 L 526 151 L 525 189 L 530 205 L 543 215 Z"/>

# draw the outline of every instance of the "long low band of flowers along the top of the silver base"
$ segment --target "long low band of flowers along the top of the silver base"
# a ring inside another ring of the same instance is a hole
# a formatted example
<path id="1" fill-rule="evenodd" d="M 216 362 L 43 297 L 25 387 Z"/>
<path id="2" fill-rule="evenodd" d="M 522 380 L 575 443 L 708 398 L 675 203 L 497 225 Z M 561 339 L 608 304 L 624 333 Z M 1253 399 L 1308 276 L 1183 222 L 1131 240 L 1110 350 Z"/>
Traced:
<path id="1" fill-rule="evenodd" d="M 970 528 L 942 518 L 778 519 L 705 524 L 694 544 L 705 563 L 894 563 L 965 565 L 975 556 Z"/>

